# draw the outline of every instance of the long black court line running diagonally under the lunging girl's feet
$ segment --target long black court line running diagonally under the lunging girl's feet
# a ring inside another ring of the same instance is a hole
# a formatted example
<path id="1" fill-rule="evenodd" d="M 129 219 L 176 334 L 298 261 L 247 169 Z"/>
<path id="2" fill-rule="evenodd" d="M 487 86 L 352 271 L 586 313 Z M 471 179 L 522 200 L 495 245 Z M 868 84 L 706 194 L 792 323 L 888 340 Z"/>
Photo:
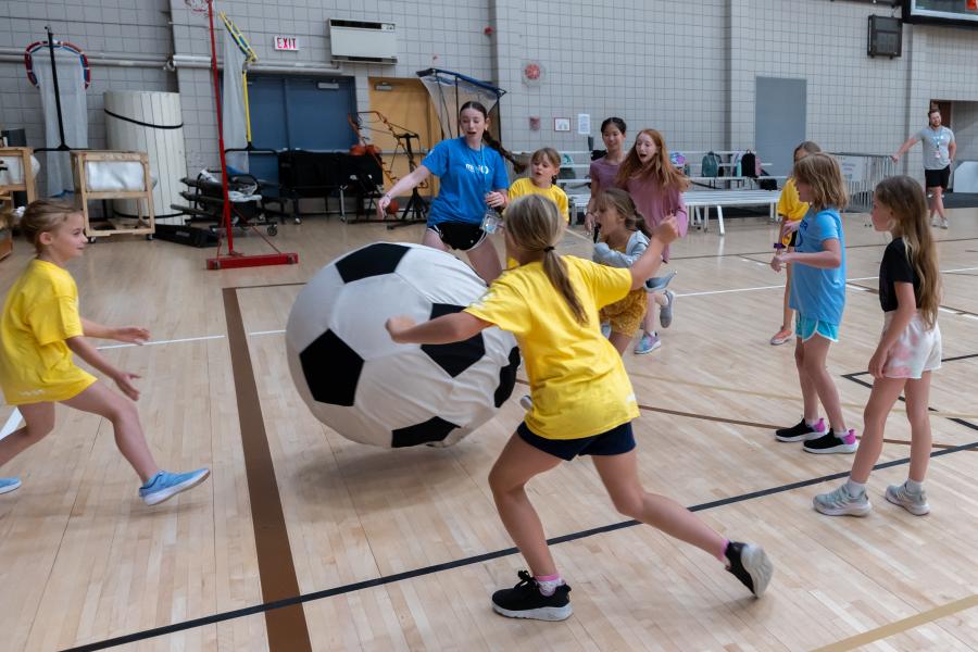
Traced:
<path id="1" fill-rule="evenodd" d="M 956 421 L 956 419 L 952 419 Z M 967 423 L 967 422 L 966 422 Z M 968 427 L 978 430 L 978 426 L 974 424 L 967 424 Z M 970 443 L 965 443 L 962 446 L 956 446 L 954 448 L 944 449 L 941 451 L 935 451 L 930 454 L 931 457 L 940 457 L 943 455 L 950 455 L 952 453 L 957 453 L 961 451 L 969 451 L 978 449 L 978 441 L 973 441 Z M 873 467 L 874 471 L 879 471 L 881 468 L 890 468 L 893 466 L 902 466 L 904 464 L 910 463 L 910 457 L 901 457 L 900 460 L 891 460 L 890 462 L 883 462 L 881 464 L 877 464 Z M 807 480 L 799 480 L 797 482 L 790 482 L 787 485 L 781 485 L 779 487 L 772 487 L 769 489 L 761 489 L 758 491 L 751 491 L 750 493 L 741 493 L 739 496 L 732 496 L 729 498 L 723 498 L 719 500 L 715 500 L 712 502 L 700 503 L 698 505 L 693 505 L 689 507 L 690 512 L 704 512 L 706 510 L 714 510 L 716 507 L 723 507 L 726 505 L 731 505 L 740 502 L 745 502 L 749 500 L 754 500 L 757 498 L 764 498 L 767 496 L 775 496 L 777 493 L 785 493 L 787 491 L 792 491 L 794 489 L 801 489 L 803 487 L 811 487 L 812 485 L 818 485 L 822 482 L 827 482 L 829 480 L 838 480 L 844 477 L 849 477 L 849 472 L 840 472 L 833 473 L 830 475 L 819 476 L 817 478 L 810 478 Z M 603 525 L 601 527 L 594 527 L 587 530 L 581 530 L 578 532 L 572 532 L 569 535 L 562 535 L 560 537 L 553 537 L 548 539 L 547 542 L 550 546 L 556 546 L 559 543 L 566 543 L 568 541 L 577 541 L 580 539 L 586 539 L 588 537 L 593 537 L 597 535 L 603 535 L 606 532 L 613 532 L 616 530 L 629 528 L 636 525 L 641 525 L 638 521 L 623 521 L 619 523 L 612 523 L 609 525 Z M 339 587 L 334 587 L 331 589 L 324 589 L 322 591 L 314 591 L 312 593 L 303 593 L 300 595 L 296 595 L 294 598 L 286 598 L 284 600 L 276 600 L 275 602 L 265 602 L 262 604 L 255 604 L 252 606 L 246 606 L 242 609 L 222 612 L 218 614 L 213 614 L 210 616 L 203 616 L 201 618 L 195 618 L 192 620 L 184 620 L 183 623 L 175 623 L 173 625 L 166 625 L 163 627 L 155 627 L 153 629 L 147 629 L 145 631 L 138 631 L 135 634 L 121 636 L 113 639 L 108 639 L 104 641 L 100 641 L 97 643 L 89 643 L 86 645 L 79 645 L 77 648 L 70 648 L 64 652 L 89 652 L 93 650 L 104 650 L 106 648 L 112 648 L 115 645 L 123 645 L 126 643 L 134 643 L 137 641 L 155 638 L 160 636 L 165 636 L 168 634 L 175 634 L 177 631 L 185 631 L 187 629 L 193 629 L 196 627 L 204 627 L 206 625 L 213 625 L 215 623 L 223 623 L 225 620 L 231 620 L 234 618 L 240 618 L 242 616 L 251 616 L 254 614 L 265 613 L 277 609 L 293 606 L 297 604 L 304 604 L 306 602 L 313 602 L 315 600 L 323 600 L 325 598 L 334 598 L 336 595 L 343 595 L 347 593 L 352 593 L 355 591 L 362 591 L 364 589 L 371 589 L 375 587 L 381 587 L 389 584 L 394 584 L 398 581 L 403 581 L 405 579 L 413 579 L 415 577 L 423 577 L 426 575 L 432 575 L 435 573 L 441 573 L 443 570 L 451 570 L 453 568 L 460 568 L 463 566 L 471 566 L 473 564 L 480 564 L 482 562 L 488 562 L 491 560 L 497 560 L 500 557 L 511 556 L 514 554 L 518 554 L 518 550 L 516 548 L 504 548 L 502 550 L 497 550 L 493 552 L 487 552 L 474 556 L 464 557 L 461 560 L 454 560 L 451 562 L 444 562 L 441 564 L 434 564 L 430 566 L 425 566 L 422 568 L 415 568 L 413 570 L 405 570 L 403 573 L 397 573 L 394 575 L 386 575 L 381 577 L 376 577 L 374 579 L 365 579 L 362 581 L 356 581 L 348 585 L 342 585 Z"/>

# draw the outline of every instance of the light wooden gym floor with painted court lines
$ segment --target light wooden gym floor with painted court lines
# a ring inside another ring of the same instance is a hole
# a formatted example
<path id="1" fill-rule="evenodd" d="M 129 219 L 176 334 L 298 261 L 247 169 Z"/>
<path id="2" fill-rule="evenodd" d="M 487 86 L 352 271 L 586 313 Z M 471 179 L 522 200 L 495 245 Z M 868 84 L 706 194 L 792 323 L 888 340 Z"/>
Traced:
<path id="1" fill-rule="evenodd" d="M 851 284 L 828 361 L 857 429 L 886 243 L 864 222 L 845 216 Z M 978 650 L 978 210 L 952 212 L 951 230 L 935 233 L 946 310 L 932 513 L 911 516 L 881 496 L 906 476 L 900 413 L 870 480 L 874 512 L 812 510 L 852 456 L 773 439 L 801 411 L 792 347 L 767 343 L 783 283 L 766 266 L 775 227 L 693 230 L 675 246 L 679 298 L 662 349 L 626 356 L 643 405 L 640 473 L 722 532 L 764 544 L 774 580 L 753 600 L 704 553 L 632 527 L 578 461 L 530 486 L 574 589 L 575 614 L 557 624 L 489 606 L 522 567 L 486 481 L 522 418 L 515 396 L 459 446 L 385 451 L 321 425 L 292 387 L 283 329 L 301 284 L 365 242 L 419 241 L 421 226 L 286 224 L 273 241 L 300 265 L 224 272 L 204 269 L 213 249 L 101 240 L 71 266 L 83 313 L 151 329 L 150 346 L 99 343 L 143 377 L 139 410 L 160 464 L 213 473 L 146 507 L 110 424 L 59 408 L 55 431 L 2 469 L 24 486 L 0 497 L 0 648 Z M 266 251 L 258 237 L 236 242 Z M 562 251 L 590 248 L 578 230 Z M 3 292 L 28 254 L 18 241 L 0 263 Z M 16 422 L 2 408 L 0 423 Z"/>

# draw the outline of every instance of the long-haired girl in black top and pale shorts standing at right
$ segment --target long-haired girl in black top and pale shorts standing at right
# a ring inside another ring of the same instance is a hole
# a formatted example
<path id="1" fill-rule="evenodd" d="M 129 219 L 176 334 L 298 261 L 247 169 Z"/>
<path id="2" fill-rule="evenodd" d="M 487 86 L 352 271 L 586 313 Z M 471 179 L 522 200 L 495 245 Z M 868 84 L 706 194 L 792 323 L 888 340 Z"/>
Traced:
<path id="1" fill-rule="evenodd" d="M 930 511 L 923 486 L 931 449 L 930 373 L 941 366 L 937 251 L 927 225 L 927 201 L 913 178 L 882 180 L 873 196 L 872 216 L 876 230 L 893 236 L 879 268 L 879 303 L 885 317 L 879 346 L 869 359 L 873 392 L 863 413 L 863 440 L 849 480 L 835 491 L 816 496 L 814 502 L 817 511 L 829 516 L 869 513 L 866 481 L 882 451 L 887 416 L 905 392 L 912 440 L 910 475 L 903 485 L 889 486 L 886 498 L 921 516 Z"/>

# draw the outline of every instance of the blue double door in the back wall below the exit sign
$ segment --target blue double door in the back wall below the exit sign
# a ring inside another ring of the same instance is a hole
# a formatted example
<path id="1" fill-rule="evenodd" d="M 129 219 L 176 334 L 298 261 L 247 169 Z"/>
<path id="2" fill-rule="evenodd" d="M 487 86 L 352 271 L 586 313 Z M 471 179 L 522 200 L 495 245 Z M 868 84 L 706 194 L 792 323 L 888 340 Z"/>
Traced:
<path id="1" fill-rule="evenodd" d="M 268 150 L 349 151 L 356 136 L 347 116 L 356 111 L 350 77 L 297 77 L 252 74 L 248 77 L 251 142 Z M 278 180 L 272 153 L 251 153 L 251 174 Z"/>

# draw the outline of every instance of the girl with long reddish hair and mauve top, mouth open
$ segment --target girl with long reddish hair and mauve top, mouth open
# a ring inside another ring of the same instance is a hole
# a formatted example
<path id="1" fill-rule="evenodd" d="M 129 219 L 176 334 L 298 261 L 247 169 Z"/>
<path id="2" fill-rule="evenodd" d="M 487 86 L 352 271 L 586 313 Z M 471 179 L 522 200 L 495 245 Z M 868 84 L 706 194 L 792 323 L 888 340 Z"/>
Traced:
<path id="1" fill-rule="evenodd" d="M 679 237 L 686 236 L 686 231 L 689 230 L 689 215 L 686 212 L 686 202 L 682 201 L 682 192 L 689 188 L 689 179 L 669 161 L 669 150 L 662 134 L 655 129 L 639 131 L 635 145 L 628 150 L 628 155 L 618 168 L 615 185 L 628 191 L 650 228 L 654 229 L 666 217 L 675 215 L 679 225 Z M 662 260 L 668 262 L 668 247 L 663 250 Z M 642 324 L 642 337 L 635 347 L 636 353 L 651 353 L 662 346 L 654 329 L 655 312 L 652 304 L 654 302 L 660 305 L 659 322 L 663 328 L 668 328 L 673 323 L 675 299 L 676 294 L 672 290 L 664 292 L 650 290 L 649 310 Z"/>

